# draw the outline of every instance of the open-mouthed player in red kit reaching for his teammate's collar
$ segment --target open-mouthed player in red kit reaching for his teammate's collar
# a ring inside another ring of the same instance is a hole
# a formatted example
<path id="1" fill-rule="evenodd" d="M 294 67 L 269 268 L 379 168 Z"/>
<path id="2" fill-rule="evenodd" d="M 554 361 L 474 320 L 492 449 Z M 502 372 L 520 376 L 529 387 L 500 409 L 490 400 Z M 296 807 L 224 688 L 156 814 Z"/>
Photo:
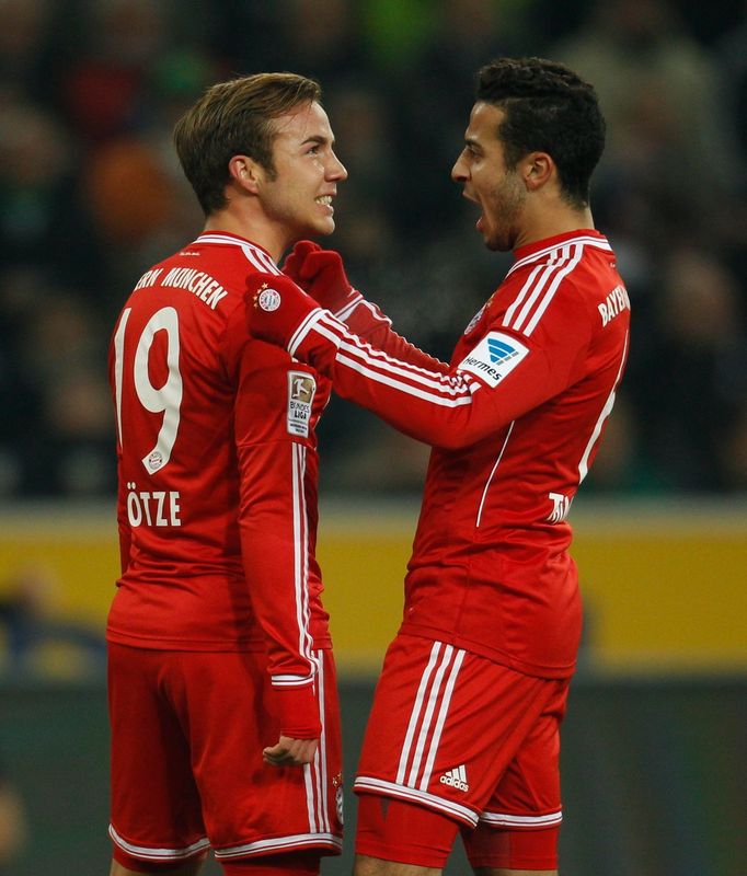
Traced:
<path id="1" fill-rule="evenodd" d="M 628 355 L 628 295 L 589 208 L 604 141 L 594 89 L 562 65 L 480 71 L 451 175 L 487 247 L 515 261 L 450 365 L 398 336 L 334 252 L 289 257 L 310 296 L 249 280 L 255 336 L 433 446 L 355 783 L 356 876 L 439 874 L 459 831 L 480 876 L 558 873 L 582 629 L 566 516 Z"/>

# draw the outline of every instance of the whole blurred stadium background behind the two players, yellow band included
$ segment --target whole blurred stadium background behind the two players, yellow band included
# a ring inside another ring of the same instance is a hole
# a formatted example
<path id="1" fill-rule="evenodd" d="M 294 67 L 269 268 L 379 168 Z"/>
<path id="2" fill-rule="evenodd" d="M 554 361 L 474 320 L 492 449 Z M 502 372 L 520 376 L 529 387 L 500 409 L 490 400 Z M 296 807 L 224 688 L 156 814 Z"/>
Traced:
<path id="1" fill-rule="evenodd" d="M 134 280 L 200 228 L 173 122 L 232 74 L 319 78 L 350 173 L 333 243 L 445 357 L 509 263 L 483 252 L 449 180 L 473 73 L 498 55 L 566 60 L 597 85 L 593 206 L 633 303 L 628 376 L 572 516 L 587 623 L 564 873 L 747 874 L 747 3 L 0 0 L 0 787 L 26 821 L 4 865 L 0 826 L 3 876 L 107 869 L 105 356 Z M 338 400 L 321 440 L 349 780 L 427 451 Z M 324 874 L 349 872 L 352 795 L 347 814 Z M 468 872 L 456 852 L 447 873 Z"/>

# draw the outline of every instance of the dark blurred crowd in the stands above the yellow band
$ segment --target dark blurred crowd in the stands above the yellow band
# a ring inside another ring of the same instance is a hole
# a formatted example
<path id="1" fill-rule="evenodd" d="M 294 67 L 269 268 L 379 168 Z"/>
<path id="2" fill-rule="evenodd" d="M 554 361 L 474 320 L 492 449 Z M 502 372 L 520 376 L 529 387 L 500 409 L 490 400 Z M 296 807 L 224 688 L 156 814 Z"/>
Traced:
<path id="1" fill-rule="evenodd" d="M 509 255 L 450 181 L 475 70 L 566 61 L 597 87 L 597 226 L 633 306 L 589 489 L 747 489 L 743 0 L 0 0 L 0 498 L 112 497 L 106 348 L 203 217 L 171 145 L 215 81 L 318 78 L 349 171 L 332 244 L 398 330 L 449 357 Z M 405 494 L 426 449 L 336 400 L 323 488 Z"/>

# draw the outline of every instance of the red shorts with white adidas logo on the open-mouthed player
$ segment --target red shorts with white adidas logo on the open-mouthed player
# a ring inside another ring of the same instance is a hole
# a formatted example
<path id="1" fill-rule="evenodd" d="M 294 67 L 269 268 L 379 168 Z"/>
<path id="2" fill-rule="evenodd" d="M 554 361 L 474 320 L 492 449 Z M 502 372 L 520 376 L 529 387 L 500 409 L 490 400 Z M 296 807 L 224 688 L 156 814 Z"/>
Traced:
<path id="1" fill-rule="evenodd" d="M 568 679 L 525 676 L 469 652 L 398 636 L 387 652 L 355 781 L 474 828 L 562 819 Z"/>

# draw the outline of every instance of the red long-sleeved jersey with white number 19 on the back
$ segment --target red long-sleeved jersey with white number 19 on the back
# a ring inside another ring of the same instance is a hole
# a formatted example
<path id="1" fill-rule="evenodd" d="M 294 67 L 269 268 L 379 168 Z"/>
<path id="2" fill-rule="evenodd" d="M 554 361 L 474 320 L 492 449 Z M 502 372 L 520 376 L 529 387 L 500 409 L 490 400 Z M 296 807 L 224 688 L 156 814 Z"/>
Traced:
<path id="1" fill-rule="evenodd" d="M 310 692 L 312 648 L 330 646 L 314 560 L 329 381 L 249 338 L 251 272 L 279 269 L 246 240 L 204 233 L 142 275 L 117 322 L 122 577 L 107 637 L 266 649 L 276 689 Z"/>

